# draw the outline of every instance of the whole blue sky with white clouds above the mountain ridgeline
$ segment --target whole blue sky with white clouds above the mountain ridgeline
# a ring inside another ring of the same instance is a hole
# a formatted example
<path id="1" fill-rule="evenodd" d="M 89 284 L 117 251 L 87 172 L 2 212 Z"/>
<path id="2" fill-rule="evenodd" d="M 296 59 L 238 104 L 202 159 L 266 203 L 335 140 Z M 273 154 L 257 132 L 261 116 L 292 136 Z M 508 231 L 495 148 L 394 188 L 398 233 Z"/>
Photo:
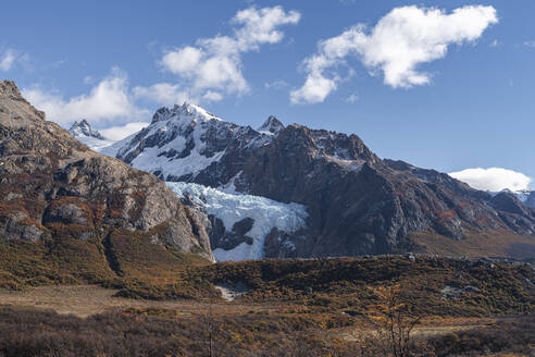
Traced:
<path id="1" fill-rule="evenodd" d="M 0 77 L 110 138 L 191 101 L 359 135 L 476 188 L 534 188 L 535 2 L 10 1 Z"/>

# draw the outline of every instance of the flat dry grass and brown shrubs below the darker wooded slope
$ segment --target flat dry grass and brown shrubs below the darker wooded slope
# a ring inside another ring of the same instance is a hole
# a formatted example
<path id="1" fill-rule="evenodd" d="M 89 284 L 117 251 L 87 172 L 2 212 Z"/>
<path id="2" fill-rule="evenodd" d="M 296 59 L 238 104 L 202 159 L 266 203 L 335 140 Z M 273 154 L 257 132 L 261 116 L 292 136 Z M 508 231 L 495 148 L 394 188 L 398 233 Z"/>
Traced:
<path id="1" fill-rule="evenodd" d="M 377 336 L 370 321 L 339 309 L 117 292 L 87 284 L 0 290 L 0 356 L 209 356 L 211 344 L 213 356 L 386 356 L 362 349 Z M 412 332 L 416 353 L 407 356 L 531 356 L 534 332 L 535 320 L 519 316 L 425 316 Z"/>

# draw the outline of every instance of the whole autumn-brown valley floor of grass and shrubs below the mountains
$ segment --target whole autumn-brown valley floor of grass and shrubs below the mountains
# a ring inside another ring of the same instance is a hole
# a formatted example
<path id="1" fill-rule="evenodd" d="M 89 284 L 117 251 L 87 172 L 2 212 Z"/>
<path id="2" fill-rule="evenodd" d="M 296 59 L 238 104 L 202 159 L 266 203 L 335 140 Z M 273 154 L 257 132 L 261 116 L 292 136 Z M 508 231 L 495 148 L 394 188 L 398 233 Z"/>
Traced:
<path id="1" fill-rule="evenodd" d="M 0 357 L 390 356 L 380 337 L 390 313 L 420 321 L 410 341 L 418 353 L 407 356 L 535 349 L 527 263 L 386 256 L 209 264 L 142 242 L 111 242 L 117 272 L 98 243 L 0 245 Z"/>

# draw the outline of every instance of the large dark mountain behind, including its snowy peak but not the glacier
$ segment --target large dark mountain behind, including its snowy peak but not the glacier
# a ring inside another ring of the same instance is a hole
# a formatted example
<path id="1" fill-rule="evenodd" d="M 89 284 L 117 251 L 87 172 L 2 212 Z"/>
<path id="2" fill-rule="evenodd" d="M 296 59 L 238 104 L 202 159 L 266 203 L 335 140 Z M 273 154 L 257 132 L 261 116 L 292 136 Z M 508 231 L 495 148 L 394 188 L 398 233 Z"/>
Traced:
<path id="1" fill-rule="evenodd" d="M 514 195 L 383 160 L 357 135 L 284 126 L 273 116 L 253 130 L 186 103 L 158 110 L 148 127 L 102 152 L 164 181 L 306 207 L 302 229 L 265 235 L 266 257 L 403 249 L 535 257 L 535 210 Z M 244 239 L 232 242 L 212 234 L 213 248 L 233 249 Z"/>

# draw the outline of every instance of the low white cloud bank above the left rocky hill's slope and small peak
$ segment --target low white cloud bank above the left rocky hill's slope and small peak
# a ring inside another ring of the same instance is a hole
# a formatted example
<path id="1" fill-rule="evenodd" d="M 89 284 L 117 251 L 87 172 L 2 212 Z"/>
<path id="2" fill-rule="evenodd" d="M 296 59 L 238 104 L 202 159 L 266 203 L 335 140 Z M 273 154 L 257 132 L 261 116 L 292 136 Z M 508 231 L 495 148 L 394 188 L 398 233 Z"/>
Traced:
<path id="1" fill-rule="evenodd" d="M 127 76 L 119 69 L 113 69 L 87 95 L 64 99 L 60 94 L 43 90 L 39 86 L 25 88 L 23 94 L 34 107 L 47 113 L 48 120 L 59 124 L 78 119 L 87 119 L 94 123 L 117 120 L 126 122 L 148 115 L 146 110 L 135 104 Z"/>

